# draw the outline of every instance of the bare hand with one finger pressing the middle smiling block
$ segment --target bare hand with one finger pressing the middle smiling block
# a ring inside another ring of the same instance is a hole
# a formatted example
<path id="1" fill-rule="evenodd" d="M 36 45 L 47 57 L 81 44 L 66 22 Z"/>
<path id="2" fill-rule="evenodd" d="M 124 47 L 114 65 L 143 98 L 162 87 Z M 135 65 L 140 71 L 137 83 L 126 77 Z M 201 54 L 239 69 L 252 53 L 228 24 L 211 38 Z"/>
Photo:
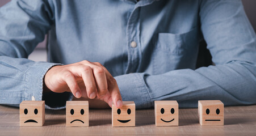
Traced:
<path id="1" fill-rule="evenodd" d="M 110 107 L 123 102 L 115 78 L 99 62 L 81 61 L 53 66 L 47 71 L 44 86 L 53 92 L 72 92 L 79 97 L 103 100 Z"/>

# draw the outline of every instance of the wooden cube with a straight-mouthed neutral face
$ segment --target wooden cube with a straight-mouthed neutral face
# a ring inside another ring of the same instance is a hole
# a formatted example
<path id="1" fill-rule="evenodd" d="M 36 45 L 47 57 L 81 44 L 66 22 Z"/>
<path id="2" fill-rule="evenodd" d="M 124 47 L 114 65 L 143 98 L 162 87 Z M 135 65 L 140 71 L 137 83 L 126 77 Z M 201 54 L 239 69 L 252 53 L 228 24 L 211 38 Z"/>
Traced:
<path id="1" fill-rule="evenodd" d="M 220 100 L 200 100 L 198 116 L 201 125 L 224 125 L 224 104 Z"/>

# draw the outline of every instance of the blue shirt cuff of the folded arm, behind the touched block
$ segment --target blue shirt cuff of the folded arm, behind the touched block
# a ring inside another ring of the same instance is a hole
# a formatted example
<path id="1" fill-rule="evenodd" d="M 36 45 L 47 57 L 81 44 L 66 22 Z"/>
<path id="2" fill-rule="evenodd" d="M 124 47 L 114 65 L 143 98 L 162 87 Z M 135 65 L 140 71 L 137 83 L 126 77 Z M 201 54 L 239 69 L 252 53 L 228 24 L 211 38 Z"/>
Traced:
<path id="1" fill-rule="evenodd" d="M 123 101 L 135 101 L 138 109 L 153 106 L 143 77 L 144 73 L 115 76 Z"/>

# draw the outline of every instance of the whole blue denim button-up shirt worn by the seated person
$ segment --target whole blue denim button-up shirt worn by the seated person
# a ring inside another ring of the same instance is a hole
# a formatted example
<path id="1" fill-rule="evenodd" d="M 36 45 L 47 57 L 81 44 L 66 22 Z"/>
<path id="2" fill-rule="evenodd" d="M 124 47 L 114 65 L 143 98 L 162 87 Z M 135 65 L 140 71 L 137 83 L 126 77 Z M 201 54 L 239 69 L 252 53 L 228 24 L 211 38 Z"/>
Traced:
<path id="1" fill-rule="evenodd" d="M 48 32 L 48 62 L 27 59 Z M 202 39 L 215 66 L 196 69 Z M 0 8 L 0 49 L 1 104 L 53 95 L 47 107 L 64 108 L 63 94 L 42 94 L 44 75 L 85 59 L 102 63 L 137 108 L 256 103 L 256 37 L 240 0 L 14 0 Z"/>

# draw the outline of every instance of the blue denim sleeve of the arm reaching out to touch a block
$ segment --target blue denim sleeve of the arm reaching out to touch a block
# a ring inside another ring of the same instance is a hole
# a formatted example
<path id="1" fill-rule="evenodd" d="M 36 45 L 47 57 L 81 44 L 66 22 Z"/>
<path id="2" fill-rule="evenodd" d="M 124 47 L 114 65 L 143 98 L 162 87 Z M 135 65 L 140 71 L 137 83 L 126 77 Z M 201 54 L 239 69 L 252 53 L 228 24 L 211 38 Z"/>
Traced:
<path id="1" fill-rule="evenodd" d="M 60 64 L 34 62 L 27 58 L 54 23 L 51 2 L 11 1 L 0 8 L 0 22 L 0 104 L 17 105 L 23 100 L 32 100 L 32 97 L 48 103 L 51 95 L 46 99 L 43 96 L 43 78 L 48 69 Z M 65 95 L 66 100 L 72 99 L 66 93 L 60 95 Z M 54 100 L 58 99 L 55 97 Z M 54 109 L 58 106 L 46 107 Z"/>

